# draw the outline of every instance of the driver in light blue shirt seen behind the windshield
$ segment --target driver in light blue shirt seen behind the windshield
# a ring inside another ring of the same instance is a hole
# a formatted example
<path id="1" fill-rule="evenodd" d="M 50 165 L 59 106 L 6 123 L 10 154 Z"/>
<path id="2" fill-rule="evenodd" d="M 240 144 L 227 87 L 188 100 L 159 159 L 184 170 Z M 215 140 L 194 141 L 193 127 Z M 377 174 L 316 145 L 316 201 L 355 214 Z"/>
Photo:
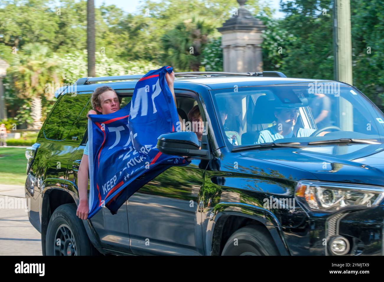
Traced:
<path id="1" fill-rule="evenodd" d="M 316 129 L 301 127 L 294 129 L 299 116 L 299 108 L 275 108 L 274 114 L 277 120 L 276 125 L 260 131 L 260 136 L 255 144 L 269 143 L 277 139 L 290 137 L 309 137 L 316 131 Z M 327 131 L 324 131 L 318 134 L 318 136 L 324 136 L 327 133 Z"/>

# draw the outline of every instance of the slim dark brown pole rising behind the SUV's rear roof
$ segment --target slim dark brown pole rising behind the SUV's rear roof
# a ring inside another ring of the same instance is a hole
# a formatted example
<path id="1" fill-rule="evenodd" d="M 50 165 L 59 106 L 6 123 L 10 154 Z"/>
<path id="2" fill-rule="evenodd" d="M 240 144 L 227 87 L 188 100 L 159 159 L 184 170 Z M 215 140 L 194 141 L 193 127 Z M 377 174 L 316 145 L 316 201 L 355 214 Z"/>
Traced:
<path id="1" fill-rule="evenodd" d="M 87 0 L 87 50 L 88 76 L 95 77 L 95 5 L 94 0 Z"/>

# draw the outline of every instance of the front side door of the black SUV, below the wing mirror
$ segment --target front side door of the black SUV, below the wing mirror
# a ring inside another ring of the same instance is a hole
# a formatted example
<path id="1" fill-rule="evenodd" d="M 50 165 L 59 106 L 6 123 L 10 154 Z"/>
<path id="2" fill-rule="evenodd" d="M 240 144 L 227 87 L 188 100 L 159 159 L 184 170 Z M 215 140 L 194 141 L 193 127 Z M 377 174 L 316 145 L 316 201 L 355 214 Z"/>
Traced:
<path id="1" fill-rule="evenodd" d="M 189 107 L 195 101 L 191 97 L 177 100 L 178 105 Z M 202 141 L 208 146 L 206 135 Z M 186 166 L 168 168 L 129 197 L 127 212 L 133 253 L 204 255 L 199 202 L 207 164 L 207 158 L 194 157 Z"/>

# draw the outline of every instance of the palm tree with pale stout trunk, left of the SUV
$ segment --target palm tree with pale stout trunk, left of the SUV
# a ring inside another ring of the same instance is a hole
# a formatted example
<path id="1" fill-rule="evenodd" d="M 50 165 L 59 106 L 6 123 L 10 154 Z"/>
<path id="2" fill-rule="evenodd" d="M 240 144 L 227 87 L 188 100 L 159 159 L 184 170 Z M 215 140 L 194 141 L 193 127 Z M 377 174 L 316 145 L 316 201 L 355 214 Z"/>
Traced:
<path id="1" fill-rule="evenodd" d="M 30 129 L 41 128 L 42 98 L 46 96 L 50 101 L 54 97 L 53 89 L 46 91 L 46 84 L 58 82 L 56 68 L 50 49 L 40 43 L 26 44 L 11 63 L 10 73 L 17 96 L 31 102 L 33 124 L 28 125 Z"/>

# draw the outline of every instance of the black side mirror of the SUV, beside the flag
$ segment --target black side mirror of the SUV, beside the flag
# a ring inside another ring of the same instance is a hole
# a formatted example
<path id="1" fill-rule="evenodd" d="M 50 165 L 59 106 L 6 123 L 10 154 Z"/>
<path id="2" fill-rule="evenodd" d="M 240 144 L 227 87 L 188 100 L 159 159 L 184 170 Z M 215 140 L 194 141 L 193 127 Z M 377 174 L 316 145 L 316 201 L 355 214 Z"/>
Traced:
<path id="1" fill-rule="evenodd" d="M 160 152 L 174 156 L 206 157 L 208 150 L 199 150 L 199 140 L 195 132 L 178 131 L 162 134 L 157 138 L 156 148 Z"/>

